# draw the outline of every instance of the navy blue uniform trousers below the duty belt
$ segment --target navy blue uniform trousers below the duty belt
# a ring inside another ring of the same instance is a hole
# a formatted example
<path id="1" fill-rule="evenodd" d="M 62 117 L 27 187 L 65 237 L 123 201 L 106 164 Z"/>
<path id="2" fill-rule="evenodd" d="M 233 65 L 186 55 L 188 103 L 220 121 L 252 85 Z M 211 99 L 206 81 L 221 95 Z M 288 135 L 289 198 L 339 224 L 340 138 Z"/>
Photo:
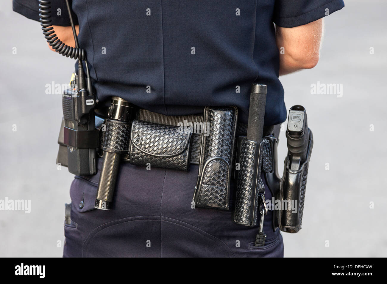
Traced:
<path id="1" fill-rule="evenodd" d="M 192 209 L 197 173 L 196 165 L 183 172 L 122 164 L 110 211 L 94 209 L 99 174 L 76 176 L 63 256 L 283 257 L 271 211 L 265 217 L 265 246 L 254 247 L 258 228 L 233 223 L 231 210 Z M 234 196 L 231 190 L 230 199 Z"/>

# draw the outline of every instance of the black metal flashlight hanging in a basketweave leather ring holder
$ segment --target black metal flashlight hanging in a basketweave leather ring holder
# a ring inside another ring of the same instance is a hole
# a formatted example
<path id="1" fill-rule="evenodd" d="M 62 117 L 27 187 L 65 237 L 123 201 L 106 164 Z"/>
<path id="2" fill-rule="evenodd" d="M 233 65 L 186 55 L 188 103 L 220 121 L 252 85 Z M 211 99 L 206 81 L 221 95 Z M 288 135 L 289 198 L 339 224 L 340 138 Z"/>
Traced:
<path id="1" fill-rule="evenodd" d="M 106 120 L 106 131 L 104 133 L 103 163 L 101 175 L 99 176 L 98 190 L 94 207 L 97 209 L 110 210 L 113 200 L 121 154 L 128 151 L 130 118 L 134 106 L 120 97 L 112 97 Z"/>

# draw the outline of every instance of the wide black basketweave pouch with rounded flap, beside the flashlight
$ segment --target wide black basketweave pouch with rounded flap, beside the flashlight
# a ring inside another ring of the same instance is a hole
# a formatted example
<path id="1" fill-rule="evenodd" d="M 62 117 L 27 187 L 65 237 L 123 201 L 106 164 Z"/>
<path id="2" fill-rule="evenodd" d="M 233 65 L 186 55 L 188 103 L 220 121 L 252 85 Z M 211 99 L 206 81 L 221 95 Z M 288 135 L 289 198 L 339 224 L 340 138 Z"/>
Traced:
<path id="1" fill-rule="evenodd" d="M 130 134 L 130 163 L 187 171 L 192 129 L 135 119 Z"/>

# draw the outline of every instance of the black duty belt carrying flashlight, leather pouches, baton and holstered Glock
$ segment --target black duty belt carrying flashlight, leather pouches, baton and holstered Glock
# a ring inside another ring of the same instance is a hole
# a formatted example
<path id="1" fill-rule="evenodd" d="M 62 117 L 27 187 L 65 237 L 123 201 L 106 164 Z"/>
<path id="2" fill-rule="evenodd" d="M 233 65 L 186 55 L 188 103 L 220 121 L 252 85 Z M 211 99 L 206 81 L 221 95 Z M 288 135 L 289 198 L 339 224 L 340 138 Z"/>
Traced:
<path id="1" fill-rule="evenodd" d="M 71 123 L 62 121 L 57 163 L 67 166 L 72 162 L 69 171 L 78 175 L 95 174 L 95 156 L 86 154 L 95 153 L 97 148 L 103 164 L 94 207 L 104 210 L 110 208 L 113 200 L 120 162 L 185 171 L 190 164 L 199 165 L 192 199 L 194 207 L 229 210 L 233 178 L 236 184 L 233 221 L 251 227 L 259 224 L 255 245 L 263 246 L 267 208 L 262 177 L 265 176 L 276 199 L 299 201 L 297 214 L 288 209 L 276 213 L 274 230 L 279 226 L 282 231 L 298 232 L 313 147 L 305 109 L 295 105 L 289 111 L 289 152 L 284 176 L 279 178 L 278 140 L 273 127 L 264 128 L 266 91 L 266 85 L 253 84 L 248 126 L 237 123 L 235 106 L 205 107 L 203 116 L 165 116 L 136 109 L 128 101 L 112 97 L 108 113 L 94 110 L 95 127 L 74 129 Z M 69 109 L 65 95 L 63 114 Z M 80 153 L 77 149 L 84 151 Z M 87 158 L 88 163 L 82 163 Z"/>

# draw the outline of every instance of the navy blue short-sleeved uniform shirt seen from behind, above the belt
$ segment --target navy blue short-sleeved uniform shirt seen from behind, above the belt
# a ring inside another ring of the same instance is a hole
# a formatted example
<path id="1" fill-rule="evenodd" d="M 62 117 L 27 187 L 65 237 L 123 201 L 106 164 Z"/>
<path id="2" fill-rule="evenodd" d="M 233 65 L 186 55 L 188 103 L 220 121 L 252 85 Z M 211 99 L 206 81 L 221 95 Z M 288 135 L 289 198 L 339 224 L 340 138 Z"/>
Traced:
<path id="1" fill-rule="evenodd" d="M 65 1 L 51 3 L 53 24 L 70 26 Z M 257 82 L 268 86 L 265 125 L 287 114 L 273 23 L 301 26 L 342 7 L 342 0 L 72 1 L 79 44 L 104 104 L 118 96 L 166 115 L 235 105 L 247 123 Z M 13 9 L 39 20 L 38 0 L 13 0 Z"/>

